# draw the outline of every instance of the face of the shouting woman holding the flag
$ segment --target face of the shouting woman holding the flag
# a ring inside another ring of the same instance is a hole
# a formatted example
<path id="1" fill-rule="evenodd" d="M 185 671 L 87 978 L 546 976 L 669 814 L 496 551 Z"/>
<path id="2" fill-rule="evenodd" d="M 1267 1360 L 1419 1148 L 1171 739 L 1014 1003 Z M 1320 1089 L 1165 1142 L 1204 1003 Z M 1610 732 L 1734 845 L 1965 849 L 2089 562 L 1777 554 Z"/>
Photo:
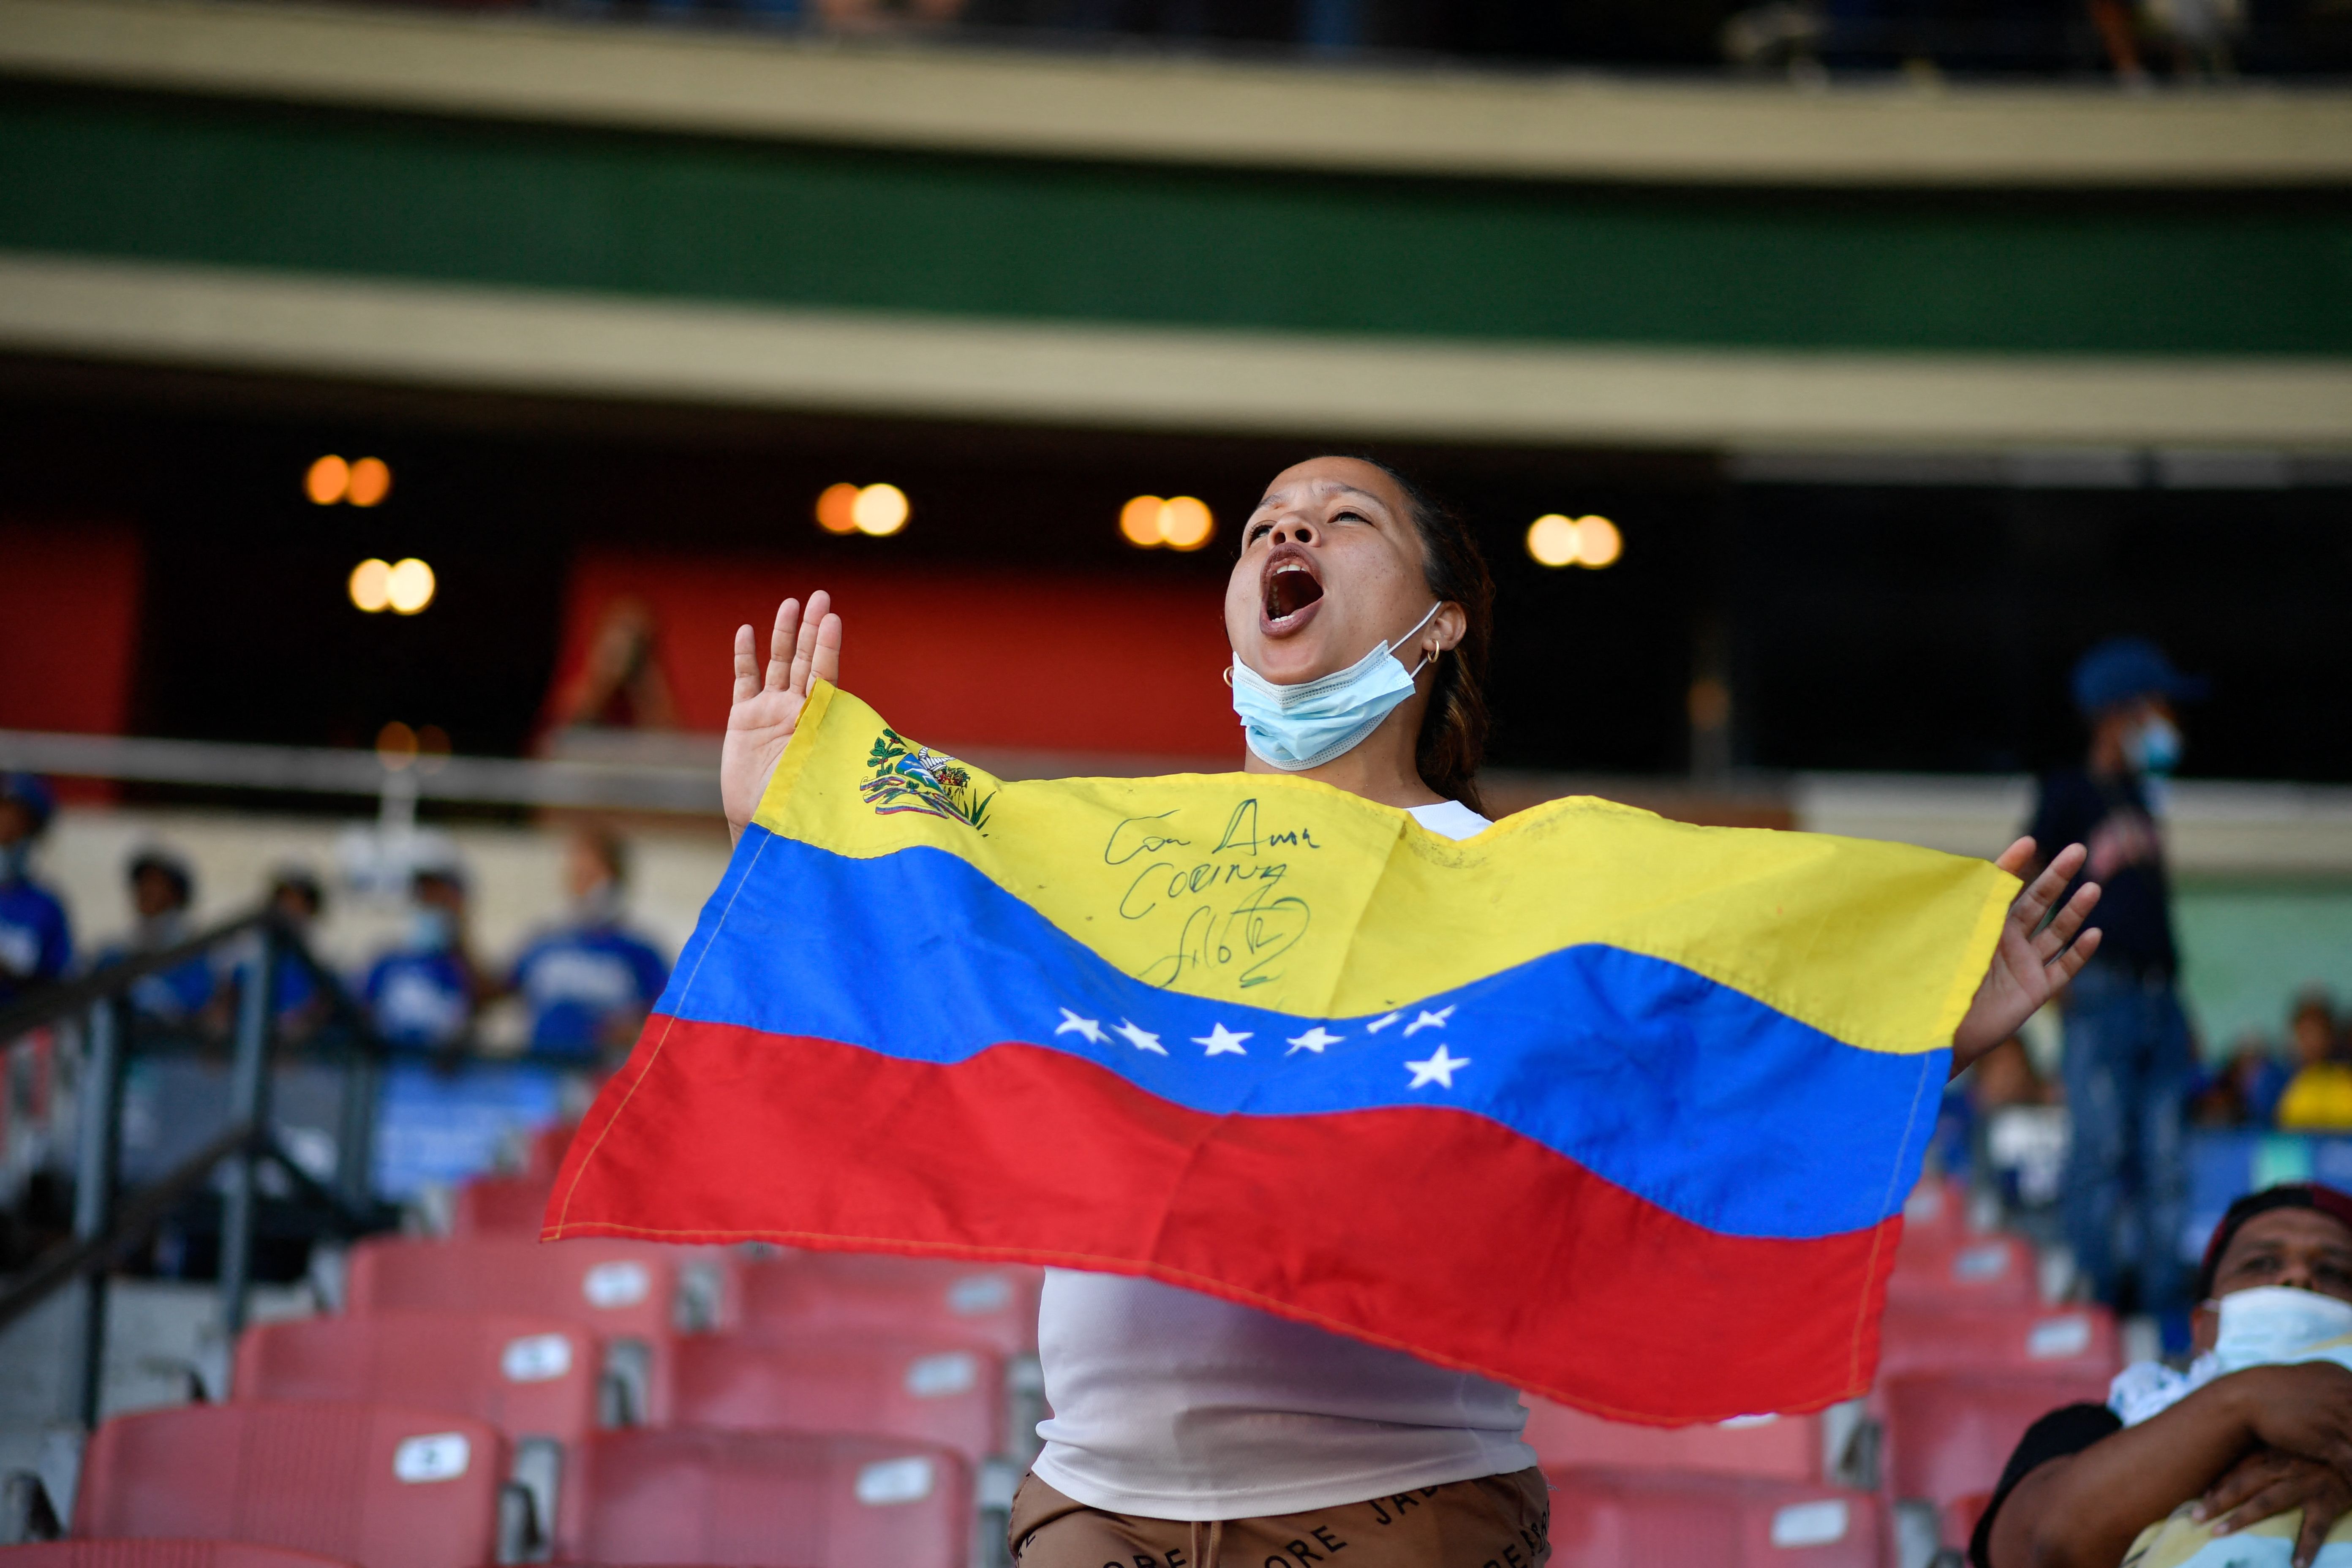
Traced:
<path id="1" fill-rule="evenodd" d="M 1345 670 L 1430 611 L 1421 534 L 1404 491 L 1357 458 L 1284 468 L 1242 524 L 1225 583 L 1225 637 L 1251 670 L 1296 686 Z M 1461 642 L 1446 604 L 1397 649 L 1406 668 Z"/>

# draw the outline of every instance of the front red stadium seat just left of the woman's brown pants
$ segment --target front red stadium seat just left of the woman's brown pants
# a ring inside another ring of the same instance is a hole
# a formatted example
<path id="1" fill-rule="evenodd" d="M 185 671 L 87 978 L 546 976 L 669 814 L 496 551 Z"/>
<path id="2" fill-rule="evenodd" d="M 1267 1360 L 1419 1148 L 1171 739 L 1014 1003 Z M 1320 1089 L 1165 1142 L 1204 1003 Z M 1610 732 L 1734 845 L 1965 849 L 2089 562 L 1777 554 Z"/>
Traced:
<path id="1" fill-rule="evenodd" d="M 971 1474 L 946 1448 L 781 1432 L 600 1432 L 569 1556 L 628 1568 L 964 1568 Z"/>

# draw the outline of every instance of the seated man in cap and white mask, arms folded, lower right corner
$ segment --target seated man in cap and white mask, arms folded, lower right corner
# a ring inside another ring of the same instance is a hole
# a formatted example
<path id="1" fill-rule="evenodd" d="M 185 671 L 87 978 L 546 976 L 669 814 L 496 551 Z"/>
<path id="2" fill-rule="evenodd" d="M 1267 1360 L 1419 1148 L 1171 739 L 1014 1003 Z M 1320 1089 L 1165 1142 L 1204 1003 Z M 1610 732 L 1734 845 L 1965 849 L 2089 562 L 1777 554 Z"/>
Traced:
<path id="1" fill-rule="evenodd" d="M 2185 1373 L 2129 1366 L 2105 1406 L 2025 1432 L 1976 1526 L 1976 1568 L 2352 1563 L 2347 1530 L 2331 1542 L 2352 1514 L 2352 1194 L 2241 1197 L 2197 1293 Z"/>

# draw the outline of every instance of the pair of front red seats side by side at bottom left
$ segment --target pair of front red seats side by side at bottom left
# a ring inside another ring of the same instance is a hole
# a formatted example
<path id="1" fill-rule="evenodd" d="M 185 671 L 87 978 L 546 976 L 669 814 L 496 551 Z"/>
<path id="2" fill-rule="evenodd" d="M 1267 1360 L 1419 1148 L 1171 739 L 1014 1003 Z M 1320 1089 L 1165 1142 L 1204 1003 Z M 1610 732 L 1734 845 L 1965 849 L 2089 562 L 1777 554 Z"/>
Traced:
<path id="1" fill-rule="evenodd" d="M 256 1401 L 118 1415 L 89 1443 L 73 1533 L 235 1540 L 358 1568 L 548 1554 L 609 1566 L 964 1568 L 971 1542 L 971 1472 L 922 1443 L 595 1432 L 572 1450 L 579 1483 L 564 1490 L 579 1502 L 555 1533 L 508 1462 L 501 1432 L 447 1410 Z"/>

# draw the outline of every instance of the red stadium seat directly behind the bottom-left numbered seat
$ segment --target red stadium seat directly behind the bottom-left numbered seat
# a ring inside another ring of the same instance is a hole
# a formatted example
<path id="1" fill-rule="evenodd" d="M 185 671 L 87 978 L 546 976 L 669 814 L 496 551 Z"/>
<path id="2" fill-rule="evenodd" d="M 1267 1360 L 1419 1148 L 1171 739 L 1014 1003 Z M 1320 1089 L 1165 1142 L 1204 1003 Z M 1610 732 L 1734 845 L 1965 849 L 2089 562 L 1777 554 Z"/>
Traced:
<path id="1" fill-rule="evenodd" d="M 567 1319 L 388 1307 L 247 1328 L 230 1387 L 247 1401 L 397 1399 L 569 1446 L 595 1427 L 600 1356 Z"/>

